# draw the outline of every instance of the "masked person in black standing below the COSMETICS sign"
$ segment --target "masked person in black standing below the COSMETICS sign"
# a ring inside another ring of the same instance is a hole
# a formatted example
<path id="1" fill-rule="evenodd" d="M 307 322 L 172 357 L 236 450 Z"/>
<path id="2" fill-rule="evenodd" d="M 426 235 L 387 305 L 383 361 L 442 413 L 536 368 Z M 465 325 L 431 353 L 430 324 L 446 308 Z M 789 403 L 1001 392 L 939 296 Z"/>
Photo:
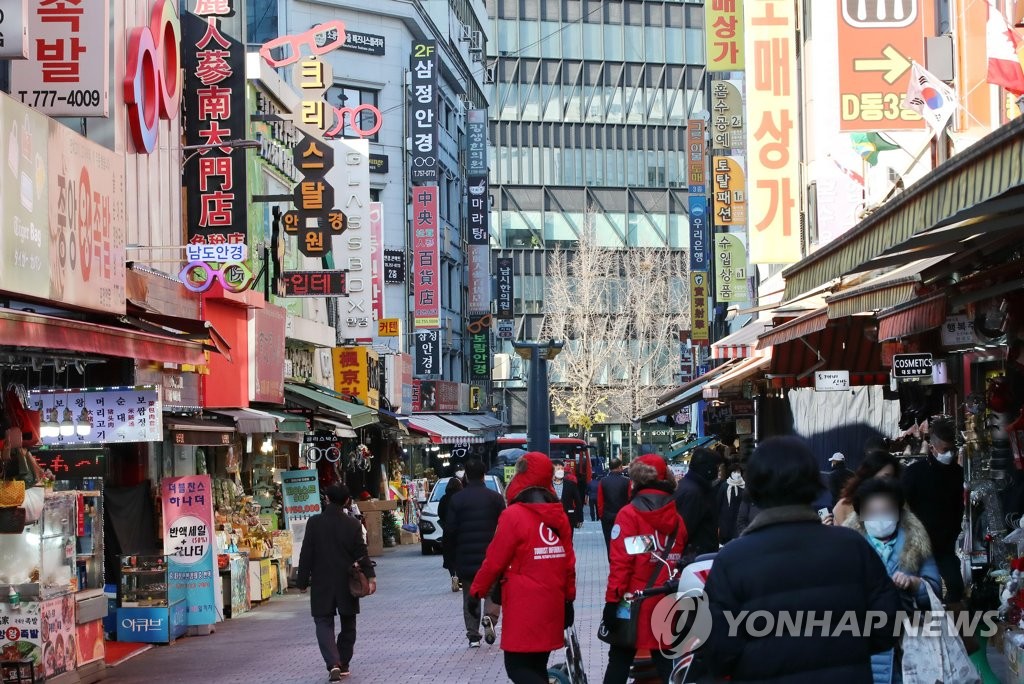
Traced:
<path id="1" fill-rule="evenodd" d="M 964 575 L 956 557 L 956 538 L 964 521 L 964 468 L 956 463 L 956 432 L 951 421 L 932 422 L 930 454 L 903 473 L 906 503 L 932 543 L 935 562 L 946 587 L 945 602 L 964 598 Z"/>

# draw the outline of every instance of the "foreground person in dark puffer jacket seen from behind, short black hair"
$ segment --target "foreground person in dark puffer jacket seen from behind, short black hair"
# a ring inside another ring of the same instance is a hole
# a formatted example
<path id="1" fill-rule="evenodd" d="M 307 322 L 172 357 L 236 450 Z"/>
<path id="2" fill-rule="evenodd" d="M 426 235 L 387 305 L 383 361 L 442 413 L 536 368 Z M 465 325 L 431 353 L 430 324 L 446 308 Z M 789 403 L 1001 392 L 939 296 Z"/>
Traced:
<path id="1" fill-rule="evenodd" d="M 737 684 L 870 682 L 870 656 L 896 644 L 900 610 L 879 554 L 854 530 L 821 524 L 817 463 L 803 439 L 766 439 L 744 479 L 761 512 L 715 557 L 699 657 Z"/>

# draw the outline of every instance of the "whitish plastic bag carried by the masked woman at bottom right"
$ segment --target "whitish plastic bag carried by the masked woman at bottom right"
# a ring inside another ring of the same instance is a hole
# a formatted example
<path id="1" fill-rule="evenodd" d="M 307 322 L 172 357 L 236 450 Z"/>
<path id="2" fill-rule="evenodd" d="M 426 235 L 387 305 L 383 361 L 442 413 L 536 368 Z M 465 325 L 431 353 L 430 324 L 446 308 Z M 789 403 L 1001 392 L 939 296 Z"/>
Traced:
<path id="1" fill-rule="evenodd" d="M 903 617 L 900 642 L 903 681 L 981 684 L 981 677 L 968 657 L 952 618 L 931 586 L 927 589 L 931 608 L 920 624 L 913 625 L 909 617 Z M 939 634 L 936 634 L 936 625 L 941 626 Z"/>

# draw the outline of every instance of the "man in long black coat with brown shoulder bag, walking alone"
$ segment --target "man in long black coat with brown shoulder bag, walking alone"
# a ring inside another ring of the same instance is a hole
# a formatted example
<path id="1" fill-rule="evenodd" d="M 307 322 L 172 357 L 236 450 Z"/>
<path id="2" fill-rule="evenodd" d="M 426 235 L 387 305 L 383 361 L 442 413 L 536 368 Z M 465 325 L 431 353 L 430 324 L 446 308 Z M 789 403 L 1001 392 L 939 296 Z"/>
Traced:
<path id="1" fill-rule="evenodd" d="M 332 484 L 325 493 L 328 505 L 323 513 L 309 518 L 299 553 L 297 584 L 309 595 L 309 612 L 316 626 L 316 642 L 331 681 L 340 681 L 349 673 L 355 647 L 355 616 L 359 599 L 348 589 L 349 572 L 358 563 L 370 579 L 370 593 L 377 591 L 374 565 L 362 541 L 362 525 L 345 509 L 351 495 L 344 484 Z M 340 616 L 341 633 L 335 640 L 334 615 Z"/>

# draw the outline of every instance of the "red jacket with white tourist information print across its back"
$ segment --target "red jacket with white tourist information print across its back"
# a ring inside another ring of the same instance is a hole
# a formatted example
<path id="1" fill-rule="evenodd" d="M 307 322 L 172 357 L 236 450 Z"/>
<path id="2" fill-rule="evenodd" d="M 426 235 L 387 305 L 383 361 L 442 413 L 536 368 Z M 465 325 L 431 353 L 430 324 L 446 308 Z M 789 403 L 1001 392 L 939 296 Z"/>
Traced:
<path id="1" fill-rule="evenodd" d="M 565 602 L 575 600 L 575 552 L 561 503 L 515 503 L 505 509 L 470 591 L 486 596 L 502 578 L 502 649 L 561 648 Z"/>

